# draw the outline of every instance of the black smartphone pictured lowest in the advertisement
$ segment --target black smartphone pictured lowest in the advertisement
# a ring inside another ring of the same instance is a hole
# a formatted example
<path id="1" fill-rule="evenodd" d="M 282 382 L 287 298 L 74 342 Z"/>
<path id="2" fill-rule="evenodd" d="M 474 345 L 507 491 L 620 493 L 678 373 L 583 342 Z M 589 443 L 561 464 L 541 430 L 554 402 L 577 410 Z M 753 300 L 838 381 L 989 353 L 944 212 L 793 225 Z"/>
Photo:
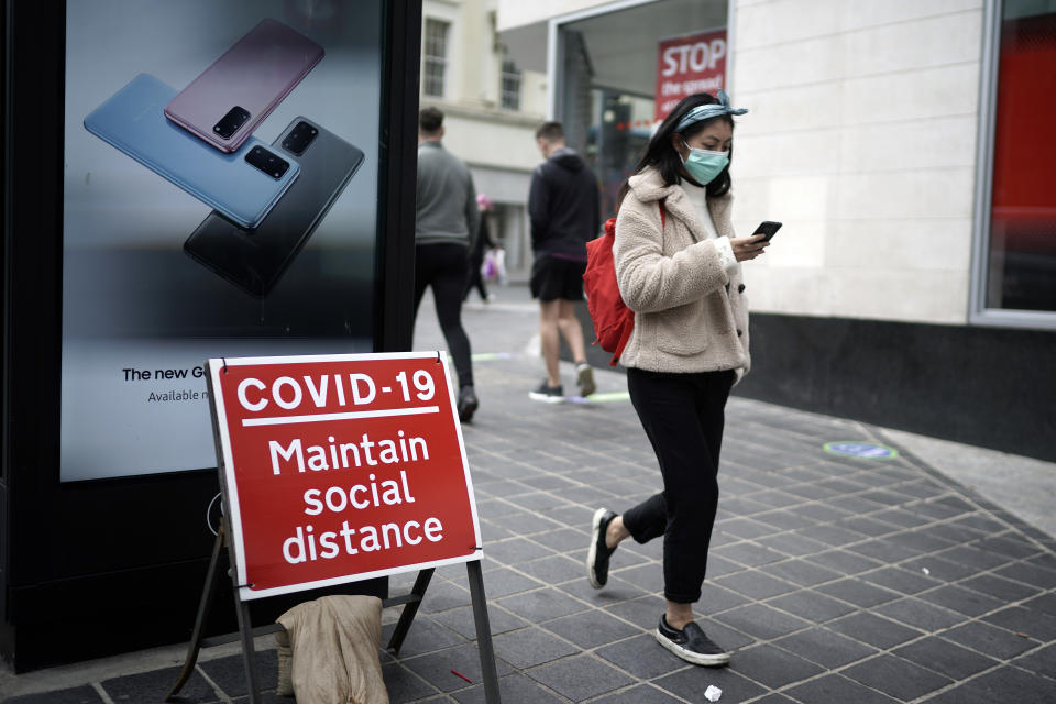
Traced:
<path id="1" fill-rule="evenodd" d="M 213 211 L 184 251 L 245 293 L 265 297 L 322 221 L 363 162 L 363 152 L 302 117 L 272 144 L 300 165 L 300 176 L 254 230 Z"/>

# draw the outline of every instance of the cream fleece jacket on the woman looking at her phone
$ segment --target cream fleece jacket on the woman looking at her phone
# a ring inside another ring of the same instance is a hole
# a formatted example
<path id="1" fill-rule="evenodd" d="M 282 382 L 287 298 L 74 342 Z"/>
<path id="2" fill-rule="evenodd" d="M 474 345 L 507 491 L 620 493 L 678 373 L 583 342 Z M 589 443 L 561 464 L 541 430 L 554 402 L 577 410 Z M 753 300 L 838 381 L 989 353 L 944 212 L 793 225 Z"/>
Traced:
<path id="1" fill-rule="evenodd" d="M 635 311 L 635 331 L 620 363 L 651 372 L 746 374 L 751 358 L 740 266 L 726 270 L 680 186 L 666 185 L 652 168 L 629 183 L 613 245 L 619 293 Z M 721 238 L 734 237 L 732 202 L 729 194 L 707 201 Z"/>

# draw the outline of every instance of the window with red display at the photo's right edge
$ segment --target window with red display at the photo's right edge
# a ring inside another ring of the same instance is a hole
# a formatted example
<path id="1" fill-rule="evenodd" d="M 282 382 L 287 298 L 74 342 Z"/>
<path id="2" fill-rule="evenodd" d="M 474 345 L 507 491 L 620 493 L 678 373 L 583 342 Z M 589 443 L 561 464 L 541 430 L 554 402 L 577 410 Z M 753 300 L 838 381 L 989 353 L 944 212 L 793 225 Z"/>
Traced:
<path id="1" fill-rule="evenodd" d="M 1056 2 L 1009 0 L 998 28 L 987 309 L 1056 311 Z"/>

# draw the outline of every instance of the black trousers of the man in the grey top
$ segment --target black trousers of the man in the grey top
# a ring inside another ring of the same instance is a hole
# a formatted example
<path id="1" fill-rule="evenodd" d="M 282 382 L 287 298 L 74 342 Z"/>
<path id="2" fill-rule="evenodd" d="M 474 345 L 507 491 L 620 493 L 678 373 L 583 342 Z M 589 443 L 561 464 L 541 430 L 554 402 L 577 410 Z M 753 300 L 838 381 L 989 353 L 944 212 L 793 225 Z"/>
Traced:
<path id="1" fill-rule="evenodd" d="M 469 256 L 469 246 L 464 244 L 419 244 L 415 248 L 415 319 L 426 288 L 432 286 L 440 330 L 454 360 L 459 388 L 473 385 L 470 339 L 462 328 L 462 293 Z"/>

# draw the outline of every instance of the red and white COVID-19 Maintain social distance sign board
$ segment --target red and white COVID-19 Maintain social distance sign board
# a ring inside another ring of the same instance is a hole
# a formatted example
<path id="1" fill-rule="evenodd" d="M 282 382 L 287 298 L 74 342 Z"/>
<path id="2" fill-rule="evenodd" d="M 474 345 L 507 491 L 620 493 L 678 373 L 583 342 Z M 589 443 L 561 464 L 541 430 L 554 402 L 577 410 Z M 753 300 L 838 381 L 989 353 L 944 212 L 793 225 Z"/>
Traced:
<path id="1" fill-rule="evenodd" d="M 437 352 L 209 360 L 243 600 L 480 557 Z"/>

